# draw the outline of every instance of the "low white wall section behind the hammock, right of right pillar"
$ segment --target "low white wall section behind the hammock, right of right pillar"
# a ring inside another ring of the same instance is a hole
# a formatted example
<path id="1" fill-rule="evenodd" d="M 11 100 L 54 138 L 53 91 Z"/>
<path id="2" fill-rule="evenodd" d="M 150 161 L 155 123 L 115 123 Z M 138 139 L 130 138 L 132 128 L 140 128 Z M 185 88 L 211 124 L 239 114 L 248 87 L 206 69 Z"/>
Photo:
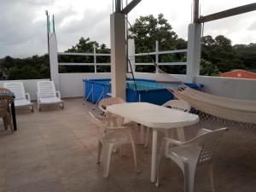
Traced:
<path id="1" fill-rule="evenodd" d="M 256 80 L 197 76 L 196 84 L 204 84 L 204 90 L 217 96 L 256 101 Z"/>

